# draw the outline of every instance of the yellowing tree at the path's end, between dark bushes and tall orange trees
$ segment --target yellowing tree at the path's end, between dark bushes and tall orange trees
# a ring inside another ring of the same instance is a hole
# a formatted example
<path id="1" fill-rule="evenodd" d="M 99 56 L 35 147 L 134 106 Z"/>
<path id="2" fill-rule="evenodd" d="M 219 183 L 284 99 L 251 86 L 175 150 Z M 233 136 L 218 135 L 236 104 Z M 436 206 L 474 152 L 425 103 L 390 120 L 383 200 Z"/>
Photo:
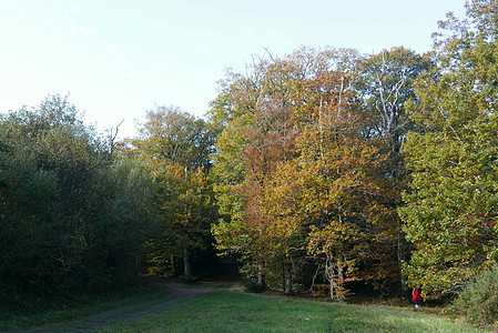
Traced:
<path id="1" fill-rule="evenodd" d="M 211 246 L 210 229 L 216 210 L 212 202 L 210 153 L 214 135 L 207 124 L 174 107 L 148 111 L 134 142 L 148 165 L 157 192 L 161 230 L 149 244 L 149 261 L 157 272 L 175 273 L 183 261 L 183 276 L 192 280 L 192 259 Z"/>

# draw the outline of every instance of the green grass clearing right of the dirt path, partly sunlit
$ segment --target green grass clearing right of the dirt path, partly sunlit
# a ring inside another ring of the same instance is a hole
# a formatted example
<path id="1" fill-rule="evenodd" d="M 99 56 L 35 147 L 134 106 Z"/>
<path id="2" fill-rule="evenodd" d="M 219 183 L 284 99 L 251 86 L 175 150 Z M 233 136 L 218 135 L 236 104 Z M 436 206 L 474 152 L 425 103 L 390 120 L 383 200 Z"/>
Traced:
<path id="1" fill-rule="evenodd" d="M 102 332 L 482 332 L 421 311 L 215 291 Z"/>

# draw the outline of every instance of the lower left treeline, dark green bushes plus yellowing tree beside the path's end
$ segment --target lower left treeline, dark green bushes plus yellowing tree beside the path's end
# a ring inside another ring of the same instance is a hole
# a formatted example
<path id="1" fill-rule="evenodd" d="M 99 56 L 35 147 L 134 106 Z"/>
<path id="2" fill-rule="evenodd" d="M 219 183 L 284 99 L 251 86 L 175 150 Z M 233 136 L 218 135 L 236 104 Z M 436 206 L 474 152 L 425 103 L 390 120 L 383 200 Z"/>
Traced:
<path id="1" fill-rule="evenodd" d="M 175 108 L 149 111 L 138 139 L 118 131 L 96 133 L 60 95 L 0 117 L 3 302 L 212 273 L 214 132 Z"/>

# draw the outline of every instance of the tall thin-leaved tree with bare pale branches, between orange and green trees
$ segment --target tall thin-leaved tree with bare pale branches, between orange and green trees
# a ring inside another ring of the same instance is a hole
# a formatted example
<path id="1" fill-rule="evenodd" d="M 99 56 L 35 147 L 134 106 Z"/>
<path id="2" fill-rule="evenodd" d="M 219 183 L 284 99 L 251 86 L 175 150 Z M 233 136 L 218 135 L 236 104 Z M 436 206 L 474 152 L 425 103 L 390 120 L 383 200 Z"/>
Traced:
<path id="1" fill-rule="evenodd" d="M 402 192 L 406 190 L 407 171 L 405 158 L 402 153 L 406 133 L 415 130 L 408 118 L 405 104 L 409 100 L 416 101 L 414 82 L 418 75 L 433 65 L 428 56 L 419 56 L 411 50 L 393 48 L 383 50 L 378 54 L 364 56 L 357 61 L 354 85 L 364 100 L 366 112 L 373 120 L 369 135 L 384 141 L 380 149 L 388 154 L 385 163 L 385 175 L 392 189 L 388 198 L 390 212 L 386 219 L 392 221 L 390 235 L 384 246 L 393 249 L 396 255 L 399 274 L 388 280 L 379 281 L 380 285 L 392 283 L 393 278 L 400 281 L 400 291 L 408 293 L 402 265 L 409 256 L 408 244 L 402 231 L 402 220 L 397 208 L 403 206 Z M 387 233 L 386 233 L 387 236 Z M 386 251 L 387 252 L 387 251 Z M 385 258 L 385 263 L 394 265 L 393 259 Z M 390 281 L 389 281 L 390 280 Z M 403 294 L 403 293 L 402 293 Z"/>

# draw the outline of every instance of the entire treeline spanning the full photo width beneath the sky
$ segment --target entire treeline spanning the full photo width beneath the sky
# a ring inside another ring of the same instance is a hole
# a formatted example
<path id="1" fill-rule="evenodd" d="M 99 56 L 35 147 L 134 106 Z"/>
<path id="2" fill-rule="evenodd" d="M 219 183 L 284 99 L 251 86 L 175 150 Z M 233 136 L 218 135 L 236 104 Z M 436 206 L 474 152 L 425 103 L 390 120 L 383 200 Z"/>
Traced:
<path id="1" fill-rule="evenodd" d="M 99 292 L 139 272 L 427 297 L 495 265 L 496 1 L 434 49 L 301 48 L 228 71 L 207 119 L 99 135 L 65 98 L 0 118 L 0 295 Z"/>

